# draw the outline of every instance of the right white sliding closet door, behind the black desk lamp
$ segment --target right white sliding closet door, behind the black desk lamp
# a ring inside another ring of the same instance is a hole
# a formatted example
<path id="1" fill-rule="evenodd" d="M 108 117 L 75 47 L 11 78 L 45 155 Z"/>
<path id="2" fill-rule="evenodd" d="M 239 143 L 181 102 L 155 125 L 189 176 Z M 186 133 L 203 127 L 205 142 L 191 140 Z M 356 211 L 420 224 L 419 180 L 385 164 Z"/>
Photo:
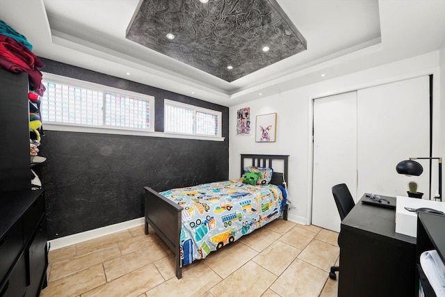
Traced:
<path id="1" fill-rule="evenodd" d="M 410 156 L 429 156 L 429 88 L 426 76 L 357 91 L 357 195 L 407 196 L 413 180 L 428 199 L 429 161 L 419 160 L 419 177 L 399 175 L 396 164 Z"/>

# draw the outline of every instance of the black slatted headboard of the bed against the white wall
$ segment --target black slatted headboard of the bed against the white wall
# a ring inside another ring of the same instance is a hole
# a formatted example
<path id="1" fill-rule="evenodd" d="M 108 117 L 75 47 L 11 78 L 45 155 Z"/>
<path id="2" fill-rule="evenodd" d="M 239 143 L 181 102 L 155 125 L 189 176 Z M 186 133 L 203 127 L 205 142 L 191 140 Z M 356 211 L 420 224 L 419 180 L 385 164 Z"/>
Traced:
<path id="1" fill-rule="evenodd" d="M 245 163 L 247 160 L 252 159 L 252 163 Z M 273 160 L 283 160 L 284 161 L 284 172 L 273 172 L 272 180 L 270 184 L 281 185 L 284 180 L 287 182 L 288 172 L 289 172 L 289 155 L 288 154 L 241 154 L 241 175 L 244 173 L 245 166 L 255 166 L 255 167 L 270 167 L 273 168 Z M 284 180 L 283 180 L 284 177 Z"/>

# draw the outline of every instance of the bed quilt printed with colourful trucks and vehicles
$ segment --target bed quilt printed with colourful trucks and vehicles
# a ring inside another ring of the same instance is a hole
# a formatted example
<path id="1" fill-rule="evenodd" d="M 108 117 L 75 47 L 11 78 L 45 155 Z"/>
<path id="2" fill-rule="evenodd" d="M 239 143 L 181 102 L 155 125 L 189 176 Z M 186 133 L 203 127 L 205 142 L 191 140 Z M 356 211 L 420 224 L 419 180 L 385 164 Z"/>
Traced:
<path id="1" fill-rule="evenodd" d="M 273 184 L 215 182 L 160 194 L 184 207 L 179 239 L 181 266 L 204 259 L 211 251 L 275 220 L 284 206 L 283 193 Z"/>

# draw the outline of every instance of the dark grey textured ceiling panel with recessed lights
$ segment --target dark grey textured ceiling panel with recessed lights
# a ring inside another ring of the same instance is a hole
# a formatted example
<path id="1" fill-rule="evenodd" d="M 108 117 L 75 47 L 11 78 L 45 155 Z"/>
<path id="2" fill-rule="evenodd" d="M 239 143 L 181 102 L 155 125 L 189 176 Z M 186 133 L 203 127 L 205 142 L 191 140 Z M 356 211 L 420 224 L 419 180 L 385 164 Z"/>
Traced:
<path id="1" fill-rule="evenodd" d="M 307 49 L 275 0 L 143 0 L 127 38 L 225 81 Z"/>

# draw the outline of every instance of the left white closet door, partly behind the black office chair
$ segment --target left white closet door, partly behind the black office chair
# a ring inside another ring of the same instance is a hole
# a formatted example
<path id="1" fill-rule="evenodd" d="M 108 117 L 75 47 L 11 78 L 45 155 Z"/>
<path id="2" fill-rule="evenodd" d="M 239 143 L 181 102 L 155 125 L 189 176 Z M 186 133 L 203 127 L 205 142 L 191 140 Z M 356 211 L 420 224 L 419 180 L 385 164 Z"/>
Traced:
<path id="1" fill-rule="evenodd" d="M 314 179 L 312 224 L 340 231 L 332 186 L 357 188 L 357 93 L 314 100 Z"/>

